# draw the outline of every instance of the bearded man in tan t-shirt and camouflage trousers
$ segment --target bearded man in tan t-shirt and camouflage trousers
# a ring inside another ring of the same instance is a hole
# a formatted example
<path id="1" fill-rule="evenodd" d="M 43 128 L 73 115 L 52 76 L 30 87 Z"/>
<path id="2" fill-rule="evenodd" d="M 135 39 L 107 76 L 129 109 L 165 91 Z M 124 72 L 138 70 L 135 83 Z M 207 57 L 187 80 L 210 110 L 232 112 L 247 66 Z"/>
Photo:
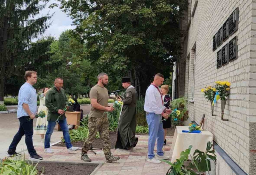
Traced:
<path id="1" fill-rule="evenodd" d="M 92 87 L 90 91 L 91 111 L 89 113 L 89 137 L 84 141 L 82 148 L 81 160 L 91 162 L 87 151 L 90 149 L 92 142 L 95 140 L 97 132 L 100 133 L 100 138 L 103 143 L 103 152 L 107 159 L 107 163 L 111 163 L 120 159 L 111 155 L 110 141 L 108 133 L 108 117 L 104 114 L 106 111 L 113 111 L 113 107 L 108 107 L 108 89 L 104 88 L 108 84 L 108 74 L 100 73 L 98 75 L 98 84 Z"/>

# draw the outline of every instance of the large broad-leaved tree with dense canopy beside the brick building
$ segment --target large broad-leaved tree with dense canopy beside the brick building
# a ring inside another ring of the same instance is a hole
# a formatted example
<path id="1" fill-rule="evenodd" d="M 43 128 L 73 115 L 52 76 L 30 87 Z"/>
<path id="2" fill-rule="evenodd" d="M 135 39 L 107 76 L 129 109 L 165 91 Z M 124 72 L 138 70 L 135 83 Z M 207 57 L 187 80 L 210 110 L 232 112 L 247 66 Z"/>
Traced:
<path id="1" fill-rule="evenodd" d="M 178 21 L 188 1 L 59 1 L 86 43 L 87 58 L 113 75 L 130 75 L 139 96 L 156 73 L 169 77 L 171 57 L 180 55 Z"/>

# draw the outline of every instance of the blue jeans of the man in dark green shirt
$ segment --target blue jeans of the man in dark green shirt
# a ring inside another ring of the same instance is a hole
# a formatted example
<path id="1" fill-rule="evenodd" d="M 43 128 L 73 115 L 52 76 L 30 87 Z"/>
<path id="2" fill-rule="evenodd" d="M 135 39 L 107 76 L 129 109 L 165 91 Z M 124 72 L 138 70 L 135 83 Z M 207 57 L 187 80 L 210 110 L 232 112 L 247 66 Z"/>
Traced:
<path id="1" fill-rule="evenodd" d="M 45 138 L 44 138 L 44 148 L 45 149 L 50 148 L 51 135 L 53 133 L 55 125 L 56 125 L 56 122 L 48 121 L 47 131 L 45 133 Z M 64 120 L 60 120 L 59 125 L 60 125 L 60 128 L 63 133 L 66 147 L 67 147 L 67 149 L 69 149 L 72 147 L 72 144 L 71 144 L 70 137 L 69 137 L 67 119 L 65 118 Z"/>

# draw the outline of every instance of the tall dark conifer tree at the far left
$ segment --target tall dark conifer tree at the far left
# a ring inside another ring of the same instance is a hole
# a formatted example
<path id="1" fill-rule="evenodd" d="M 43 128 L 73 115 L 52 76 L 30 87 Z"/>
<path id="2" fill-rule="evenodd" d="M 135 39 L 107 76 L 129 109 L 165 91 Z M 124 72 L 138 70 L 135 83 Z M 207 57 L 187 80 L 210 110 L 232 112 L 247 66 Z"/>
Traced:
<path id="1" fill-rule="evenodd" d="M 24 63 L 44 59 L 31 49 L 30 43 L 51 24 L 52 15 L 36 18 L 48 1 L 0 0 L 0 103 L 4 101 L 5 79 L 24 72 Z M 28 57 L 27 53 L 32 56 Z"/>

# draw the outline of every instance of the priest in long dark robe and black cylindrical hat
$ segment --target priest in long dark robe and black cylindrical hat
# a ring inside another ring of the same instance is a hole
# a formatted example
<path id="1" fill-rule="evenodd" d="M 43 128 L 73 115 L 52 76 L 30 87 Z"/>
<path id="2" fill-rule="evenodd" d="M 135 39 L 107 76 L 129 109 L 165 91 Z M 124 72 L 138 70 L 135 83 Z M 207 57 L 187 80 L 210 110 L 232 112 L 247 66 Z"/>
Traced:
<path id="1" fill-rule="evenodd" d="M 122 78 L 122 86 L 126 91 L 123 100 L 118 97 L 118 101 L 122 101 L 124 105 L 119 118 L 115 148 L 131 149 L 138 143 L 138 138 L 135 137 L 138 95 L 136 89 L 131 85 L 130 77 Z"/>

